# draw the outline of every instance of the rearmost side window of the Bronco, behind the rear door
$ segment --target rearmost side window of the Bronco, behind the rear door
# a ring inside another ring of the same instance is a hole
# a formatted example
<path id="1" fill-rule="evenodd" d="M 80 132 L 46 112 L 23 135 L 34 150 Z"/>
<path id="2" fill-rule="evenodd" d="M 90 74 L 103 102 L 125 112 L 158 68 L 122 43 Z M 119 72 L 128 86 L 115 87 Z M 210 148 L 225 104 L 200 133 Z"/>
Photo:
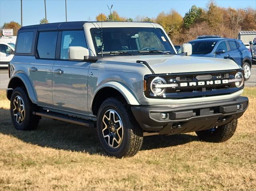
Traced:
<path id="1" fill-rule="evenodd" d="M 20 32 L 17 40 L 16 53 L 30 54 L 34 32 Z"/>

